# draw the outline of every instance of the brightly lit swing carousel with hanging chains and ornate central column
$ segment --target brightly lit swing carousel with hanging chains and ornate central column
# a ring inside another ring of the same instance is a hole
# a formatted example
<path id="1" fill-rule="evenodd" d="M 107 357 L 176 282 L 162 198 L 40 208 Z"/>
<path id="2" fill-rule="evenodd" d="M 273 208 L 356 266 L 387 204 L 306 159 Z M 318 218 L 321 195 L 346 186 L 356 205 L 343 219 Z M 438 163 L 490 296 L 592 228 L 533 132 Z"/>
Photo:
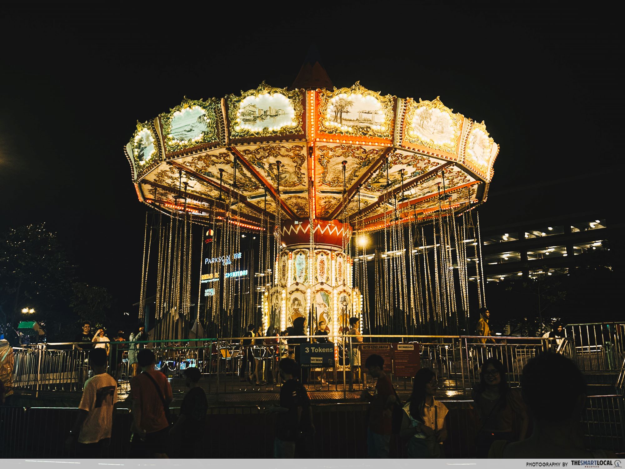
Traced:
<path id="1" fill-rule="evenodd" d="M 351 316 L 364 333 L 462 326 L 471 278 L 484 303 L 473 209 L 498 151 L 483 122 L 439 98 L 358 82 L 298 77 L 185 98 L 138 123 L 125 147 L 137 197 L 154 209 L 140 315 L 152 276 L 161 338 L 183 334 L 181 320 L 217 336 L 299 316 L 331 336 Z"/>

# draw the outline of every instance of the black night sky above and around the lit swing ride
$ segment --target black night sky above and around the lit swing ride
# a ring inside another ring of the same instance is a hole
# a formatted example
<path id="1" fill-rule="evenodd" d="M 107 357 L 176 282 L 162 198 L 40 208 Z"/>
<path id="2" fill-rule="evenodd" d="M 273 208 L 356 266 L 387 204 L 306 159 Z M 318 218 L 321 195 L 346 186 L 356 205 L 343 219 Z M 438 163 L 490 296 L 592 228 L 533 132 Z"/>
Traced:
<path id="1" fill-rule="evenodd" d="M 207 4 L 3 7 L 0 231 L 46 221 L 81 280 L 109 288 L 122 310 L 139 297 L 146 213 L 123 153 L 136 121 L 183 96 L 289 86 L 313 42 L 336 86 L 441 96 L 486 122 L 501 153 L 482 224 L 614 210 L 622 43 L 613 12 Z"/>

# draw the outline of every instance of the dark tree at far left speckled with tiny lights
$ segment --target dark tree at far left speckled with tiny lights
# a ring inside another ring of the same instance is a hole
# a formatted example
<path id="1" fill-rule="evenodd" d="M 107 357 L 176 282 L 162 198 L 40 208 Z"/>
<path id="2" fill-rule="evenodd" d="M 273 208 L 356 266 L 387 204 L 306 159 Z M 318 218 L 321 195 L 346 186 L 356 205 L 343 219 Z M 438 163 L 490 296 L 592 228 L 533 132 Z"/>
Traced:
<path id="1" fill-rule="evenodd" d="M 46 320 L 63 320 L 74 266 L 46 224 L 11 228 L 0 236 L 0 311 L 14 323 L 22 308 Z"/>

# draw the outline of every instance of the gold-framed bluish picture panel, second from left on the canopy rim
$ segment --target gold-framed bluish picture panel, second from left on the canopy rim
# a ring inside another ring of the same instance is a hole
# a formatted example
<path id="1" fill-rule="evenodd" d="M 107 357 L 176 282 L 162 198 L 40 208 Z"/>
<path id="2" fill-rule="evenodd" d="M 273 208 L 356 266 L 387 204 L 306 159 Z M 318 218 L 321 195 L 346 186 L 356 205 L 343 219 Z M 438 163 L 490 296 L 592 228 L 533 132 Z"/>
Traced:
<path id="1" fill-rule="evenodd" d="M 174 129 L 172 126 L 174 118 L 181 118 L 184 113 L 188 112 L 199 115 L 185 128 Z M 201 99 L 187 99 L 185 96 L 181 104 L 169 109 L 169 113 L 162 114 L 161 122 L 163 122 L 167 153 L 217 141 L 219 139 L 217 132 L 218 113 L 221 111 L 219 111 L 217 99 L 211 98 L 208 101 L 202 101 Z"/>

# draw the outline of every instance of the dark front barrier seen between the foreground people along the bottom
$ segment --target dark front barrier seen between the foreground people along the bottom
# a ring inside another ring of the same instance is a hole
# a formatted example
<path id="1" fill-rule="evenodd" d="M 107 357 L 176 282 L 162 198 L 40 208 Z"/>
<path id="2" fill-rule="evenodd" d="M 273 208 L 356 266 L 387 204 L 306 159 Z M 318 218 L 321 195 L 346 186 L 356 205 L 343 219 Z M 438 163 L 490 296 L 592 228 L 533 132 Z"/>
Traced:
<path id="1" fill-rule="evenodd" d="M 449 436 L 443 445 L 447 458 L 476 455 L 476 418 L 469 400 L 442 400 L 449 408 Z M 582 416 L 586 447 L 622 451 L 625 437 L 621 416 L 623 397 L 590 396 Z M 179 409 L 173 409 L 176 415 Z M 312 458 L 364 458 L 367 456 L 366 404 L 313 404 L 316 433 L 299 450 Z M 1 458 L 71 457 L 75 448 L 64 441 L 76 418 L 71 408 L 21 408 L 0 406 Z M 166 448 L 171 457 L 271 458 L 277 416 L 256 405 L 209 407 L 205 431 L 192 440 L 171 439 Z M 124 458 L 130 451 L 132 416 L 118 408 L 113 420 L 109 457 Z M 518 425 L 515 423 L 517 431 Z M 393 437 L 391 457 L 405 457 L 404 442 Z"/>

